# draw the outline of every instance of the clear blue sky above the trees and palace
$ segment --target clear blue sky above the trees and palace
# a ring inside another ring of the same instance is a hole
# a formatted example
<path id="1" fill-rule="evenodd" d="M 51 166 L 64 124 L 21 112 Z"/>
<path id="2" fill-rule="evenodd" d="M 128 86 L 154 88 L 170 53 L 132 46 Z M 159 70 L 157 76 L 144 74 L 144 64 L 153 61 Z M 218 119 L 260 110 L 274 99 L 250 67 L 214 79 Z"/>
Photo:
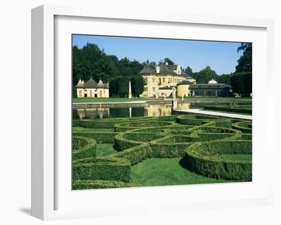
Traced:
<path id="1" fill-rule="evenodd" d="M 240 42 L 73 35 L 73 45 L 82 48 L 87 42 L 97 44 L 106 54 L 114 54 L 118 59 L 127 57 L 139 62 L 149 59 L 157 64 L 167 57 L 183 68 L 190 66 L 193 72 L 210 66 L 219 75 L 235 72 L 242 55 L 241 51 L 237 53 Z"/>

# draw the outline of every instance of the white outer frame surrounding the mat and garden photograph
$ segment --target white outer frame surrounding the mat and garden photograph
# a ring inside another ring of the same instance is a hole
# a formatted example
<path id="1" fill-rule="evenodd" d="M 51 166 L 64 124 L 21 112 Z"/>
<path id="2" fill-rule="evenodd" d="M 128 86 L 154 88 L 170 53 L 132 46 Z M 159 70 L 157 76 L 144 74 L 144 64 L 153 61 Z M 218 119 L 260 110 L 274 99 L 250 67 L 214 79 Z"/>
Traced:
<path id="1" fill-rule="evenodd" d="M 56 188 L 58 180 L 56 176 L 56 166 L 58 159 L 56 158 L 55 146 L 56 146 L 56 134 L 58 132 L 56 124 L 58 123 L 58 102 L 56 99 L 56 82 L 54 62 L 56 60 L 55 48 L 55 29 L 58 26 L 55 24 L 56 16 L 72 16 L 79 19 L 89 18 L 111 18 L 111 19 L 122 19 L 130 21 L 146 21 L 147 22 L 167 22 L 173 24 L 193 24 L 193 26 L 204 24 L 218 25 L 221 29 L 227 29 L 227 27 L 242 27 L 245 32 L 247 27 L 256 27 L 257 29 L 264 29 L 266 32 L 266 62 L 265 62 L 265 73 L 266 73 L 266 90 L 270 90 L 273 87 L 273 21 L 269 19 L 250 19 L 250 18 L 237 18 L 237 17 L 218 17 L 218 16 L 198 16 L 188 14 L 176 14 L 176 13 L 154 13 L 149 12 L 127 12 L 118 13 L 107 11 L 106 9 L 99 9 L 99 11 L 93 12 L 87 8 L 77 7 L 62 7 L 62 6 L 51 6 L 44 5 L 32 9 L 32 216 L 43 219 L 62 219 L 62 218 L 81 218 L 81 217 L 96 217 L 96 216 L 107 216 L 107 215 L 130 215 L 148 212 L 171 212 L 171 211 L 188 211 L 191 209 L 212 209 L 212 208 L 236 208 L 236 207 L 249 207 L 255 205 L 272 205 L 274 201 L 273 194 L 273 161 L 274 161 L 274 146 L 273 136 L 270 135 L 272 129 L 273 117 L 271 117 L 274 99 L 269 96 L 259 96 L 268 103 L 266 110 L 265 120 L 263 124 L 266 129 L 266 156 L 267 161 L 265 162 L 268 167 L 268 179 L 265 183 L 267 188 L 266 194 L 256 194 L 255 198 L 246 198 L 245 196 L 241 199 L 228 199 L 223 196 L 218 201 L 181 201 L 177 202 L 172 199 L 159 203 L 157 206 L 145 207 L 145 205 L 130 206 L 128 202 L 118 203 L 111 202 L 112 207 L 100 207 L 100 210 L 93 209 L 93 207 L 77 207 L 77 209 L 57 209 L 56 200 L 58 198 Z M 205 27 L 205 29 L 206 29 Z M 69 46 L 70 47 L 70 46 Z M 253 59 L 254 59 L 253 51 Z M 255 61 L 253 60 L 253 64 Z M 68 68 L 69 69 L 69 68 Z M 257 80 L 257 79 L 256 79 Z M 254 85 L 255 82 L 253 81 Z M 255 89 L 253 87 L 253 89 Z M 253 91 L 254 93 L 254 91 Z M 255 93 L 254 93 L 255 95 Z M 258 102 L 259 99 L 253 102 Z M 255 103 L 253 103 L 255 104 Z M 253 105 L 253 118 L 258 118 L 255 110 L 260 108 Z M 69 121 L 71 123 L 71 121 Z M 253 130 L 255 126 L 253 125 Z M 256 126 L 257 127 L 257 126 Z M 254 159 L 253 159 L 254 160 Z M 254 167 L 254 165 L 253 165 Z M 69 176 L 71 176 L 69 174 Z M 254 182 L 254 180 L 253 180 Z M 239 184 L 235 184 L 239 185 Z M 165 191 L 177 190 L 184 191 L 185 188 L 194 188 L 189 186 L 181 187 L 166 187 Z M 229 186 L 230 187 L 230 186 Z M 235 186 L 238 188 L 238 186 Z M 158 192 L 157 187 L 153 188 L 131 188 L 131 194 L 145 190 L 146 193 Z M 200 188 L 200 187 L 198 187 Z M 210 188 L 206 186 L 206 188 Z M 205 188 L 205 189 L 206 189 Z M 216 188 L 219 188 L 217 186 Z M 233 188 L 233 187 L 231 187 Z M 241 186 L 241 189 L 244 187 Z M 250 186 L 248 188 L 251 188 Z M 155 191 L 156 190 L 156 191 Z M 71 190 L 70 190 L 71 191 Z M 82 191 L 81 191 L 82 192 Z M 127 188 L 119 190 L 118 194 L 122 194 L 126 198 Z M 86 193 L 86 192 L 85 192 Z M 88 192 L 89 193 L 89 192 Z M 106 198 L 106 195 L 114 195 L 113 190 L 102 190 L 99 192 Z M 227 195 L 226 195 L 227 196 Z M 106 199 L 104 200 L 106 201 Z M 107 200 L 108 201 L 108 200 Z M 116 200 L 117 201 L 117 200 Z M 87 204 L 85 204 L 87 205 Z M 119 209 L 116 209 L 116 205 Z M 115 207 L 115 211 L 114 211 Z M 120 210 L 122 209 L 122 210 Z"/>

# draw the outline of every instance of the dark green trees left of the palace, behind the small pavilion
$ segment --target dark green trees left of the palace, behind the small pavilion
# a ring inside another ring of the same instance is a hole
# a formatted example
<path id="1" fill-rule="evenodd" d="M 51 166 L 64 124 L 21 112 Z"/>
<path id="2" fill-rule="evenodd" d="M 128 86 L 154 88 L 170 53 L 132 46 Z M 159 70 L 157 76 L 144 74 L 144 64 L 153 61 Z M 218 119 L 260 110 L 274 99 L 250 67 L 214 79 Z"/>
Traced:
<path id="1" fill-rule="evenodd" d="M 115 55 L 108 55 L 98 45 L 87 43 L 81 49 L 73 46 L 73 87 L 81 78 L 87 81 L 90 77 L 97 82 L 109 82 L 110 96 L 125 97 L 129 91 L 131 80 L 132 94 L 138 96 L 144 91 L 143 77 L 137 73 L 144 68 L 146 62 L 139 63 L 128 58 L 118 59 Z M 156 68 L 156 63 L 150 65 Z M 76 92 L 73 92 L 76 94 Z"/>

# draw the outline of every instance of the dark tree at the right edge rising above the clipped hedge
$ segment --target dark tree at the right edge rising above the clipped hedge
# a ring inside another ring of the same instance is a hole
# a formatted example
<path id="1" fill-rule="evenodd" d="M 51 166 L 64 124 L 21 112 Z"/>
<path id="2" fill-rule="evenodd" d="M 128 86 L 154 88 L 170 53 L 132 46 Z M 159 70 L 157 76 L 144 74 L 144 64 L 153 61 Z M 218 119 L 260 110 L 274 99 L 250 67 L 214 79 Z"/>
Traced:
<path id="1" fill-rule="evenodd" d="M 252 44 L 241 43 L 237 48 L 237 52 L 243 51 L 239 58 L 238 65 L 236 66 L 236 73 L 238 72 L 252 72 Z"/>

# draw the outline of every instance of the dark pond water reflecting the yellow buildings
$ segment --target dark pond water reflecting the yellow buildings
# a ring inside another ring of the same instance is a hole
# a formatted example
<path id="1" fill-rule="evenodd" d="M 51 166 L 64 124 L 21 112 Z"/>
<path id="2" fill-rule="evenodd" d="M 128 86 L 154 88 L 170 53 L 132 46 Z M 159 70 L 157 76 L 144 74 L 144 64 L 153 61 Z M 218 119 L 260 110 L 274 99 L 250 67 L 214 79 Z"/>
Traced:
<path id="1" fill-rule="evenodd" d="M 203 108 L 204 105 L 231 104 L 237 103 L 178 103 L 178 109 Z M 141 107 L 73 108 L 73 119 L 170 116 L 171 108 L 172 104 L 154 104 Z"/>

